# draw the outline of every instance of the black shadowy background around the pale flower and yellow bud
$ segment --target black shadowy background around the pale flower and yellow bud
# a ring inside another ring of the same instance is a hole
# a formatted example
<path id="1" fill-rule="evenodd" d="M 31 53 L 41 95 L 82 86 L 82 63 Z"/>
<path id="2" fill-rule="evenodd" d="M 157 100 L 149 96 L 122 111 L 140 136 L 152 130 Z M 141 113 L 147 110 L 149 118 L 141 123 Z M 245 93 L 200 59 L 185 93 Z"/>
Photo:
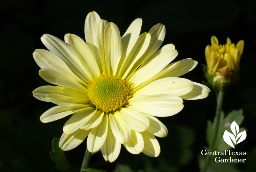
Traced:
<path id="1" fill-rule="evenodd" d="M 223 110 L 244 109 L 247 138 L 236 147 L 246 151 L 247 161 L 235 164 L 238 170 L 254 171 L 251 157 L 256 153 L 255 132 L 255 1 L 4 1 L 0 4 L 0 171 L 57 171 L 50 159 L 51 141 L 60 137 L 62 126 L 69 117 L 41 123 L 40 115 L 53 107 L 52 103 L 36 100 L 32 91 L 48 85 L 40 78 L 40 69 L 32 53 L 46 49 L 40 37 L 47 33 L 64 39 L 64 34 L 76 34 L 84 39 L 84 21 L 90 11 L 102 19 L 114 22 L 124 34 L 130 23 L 142 18 L 141 33 L 157 23 L 166 26 L 162 45 L 173 43 L 179 52 L 175 59 L 191 57 L 197 67 L 184 75 L 192 81 L 204 80 L 202 65 L 206 64 L 204 49 L 215 35 L 219 43 L 227 37 L 235 44 L 244 40 L 240 63 L 240 81 L 224 97 Z M 177 115 L 161 118 L 168 136 L 157 138 L 161 153 L 151 158 L 143 153 L 133 155 L 124 147 L 113 163 L 105 162 L 101 153 L 92 157 L 89 167 L 112 171 L 117 164 L 132 170 L 198 171 L 198 155 L 205 141 L 207 120 L 215 114 L 215 93 L 203 100 L 184 101 Z M 68 160 L 80 168 L 86 141 L 67 151 Z M 234 165 L 234 164 L 233 164 Z M 226 169 L 228 170 L 228 169 Z"/>

